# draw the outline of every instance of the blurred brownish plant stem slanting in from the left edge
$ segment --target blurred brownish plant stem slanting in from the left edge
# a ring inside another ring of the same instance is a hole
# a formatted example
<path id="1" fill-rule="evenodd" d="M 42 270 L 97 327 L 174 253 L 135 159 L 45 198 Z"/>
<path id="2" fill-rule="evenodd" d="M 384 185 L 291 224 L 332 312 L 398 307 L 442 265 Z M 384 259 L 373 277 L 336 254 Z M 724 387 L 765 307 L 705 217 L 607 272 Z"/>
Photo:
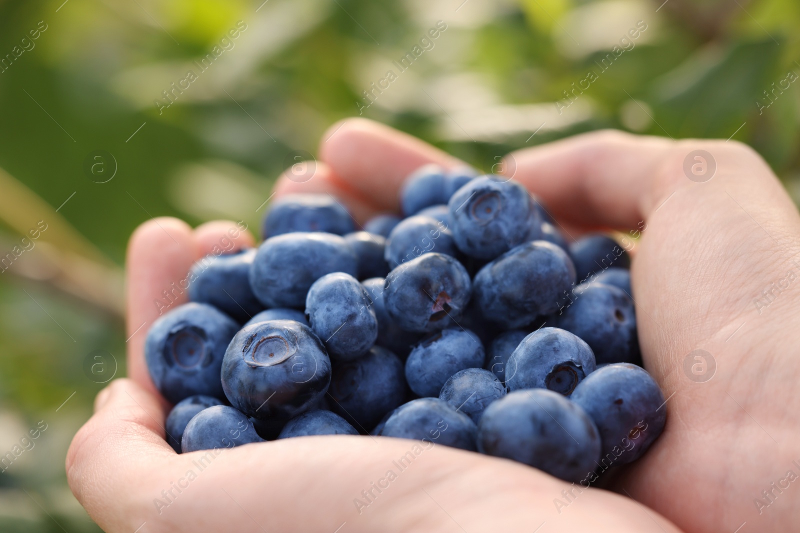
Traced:
<path id="1" fill-rule="evenodd" d="M 122 319 L 125 315 L 122 268 L 50 204 L 3 169 L 0 169 L 0 191 L 0 220 L 19 234 L 12 237 L 0 233 L 0 260 L 6 254 L 15 257 L 10 266 L 3 265 L 6 270 L 2 272 L 48 284 Z M 47 229 L 37 239 L 31 239 L 29 232 L 37 228 L 39 221 L 44 221 Z M 32 243 L 30 249 L 23 245 L 22 237 Z M 15 247 L 25 251 L 17 257 L 12 252 Z"/>

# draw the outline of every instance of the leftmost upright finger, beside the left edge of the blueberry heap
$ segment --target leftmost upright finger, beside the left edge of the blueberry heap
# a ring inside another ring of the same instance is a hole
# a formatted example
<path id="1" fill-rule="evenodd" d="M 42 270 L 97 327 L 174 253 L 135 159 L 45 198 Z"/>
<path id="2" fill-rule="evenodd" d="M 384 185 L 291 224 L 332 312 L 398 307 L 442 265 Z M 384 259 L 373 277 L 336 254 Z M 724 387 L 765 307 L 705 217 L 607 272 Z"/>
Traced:
<path id="1" fill-rule="evenodd" d="M 150 391 L 155 388 L 144 360 L 147 330 L 164 312 L 186 301 L 186 272 L 195 257 L 192 229 L 177 218 L 147 221 L 128 242 L 128 376 Z"/>

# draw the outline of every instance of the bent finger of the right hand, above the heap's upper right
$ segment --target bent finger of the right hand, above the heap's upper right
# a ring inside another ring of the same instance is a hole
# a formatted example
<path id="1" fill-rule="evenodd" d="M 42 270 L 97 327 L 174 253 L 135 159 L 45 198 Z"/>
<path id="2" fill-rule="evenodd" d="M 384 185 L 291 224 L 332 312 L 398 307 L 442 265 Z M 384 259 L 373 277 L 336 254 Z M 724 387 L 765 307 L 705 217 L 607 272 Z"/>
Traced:
<path id="1" fill-rule="evenodd" d="M 607 130 L 510 153 L 502 166 L 559 221 L 629 229 L 666 192 L 658 178 L 673 153 L 661 137 Z"/>

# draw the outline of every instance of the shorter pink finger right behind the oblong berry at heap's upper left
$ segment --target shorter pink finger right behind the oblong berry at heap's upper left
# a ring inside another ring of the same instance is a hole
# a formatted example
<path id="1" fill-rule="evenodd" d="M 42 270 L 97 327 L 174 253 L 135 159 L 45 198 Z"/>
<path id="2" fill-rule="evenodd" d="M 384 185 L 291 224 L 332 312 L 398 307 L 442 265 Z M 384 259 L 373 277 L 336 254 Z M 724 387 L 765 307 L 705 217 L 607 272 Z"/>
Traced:
<path id="1" fill-rule="evenodd" d="M 275 184 L 274 199 L 297 193 L 330 194 L 352 215 L 359 229 L 370 217 L 386 210 L 381 209 L 371 198 L 365 197 L 347 181 L 334 176 L 330 166 L 325 163 L 316 161 L 309 164 L 313 164 L 314 169 L 302 175 L 294 173 L 291 168 L 286 169 Z"/>

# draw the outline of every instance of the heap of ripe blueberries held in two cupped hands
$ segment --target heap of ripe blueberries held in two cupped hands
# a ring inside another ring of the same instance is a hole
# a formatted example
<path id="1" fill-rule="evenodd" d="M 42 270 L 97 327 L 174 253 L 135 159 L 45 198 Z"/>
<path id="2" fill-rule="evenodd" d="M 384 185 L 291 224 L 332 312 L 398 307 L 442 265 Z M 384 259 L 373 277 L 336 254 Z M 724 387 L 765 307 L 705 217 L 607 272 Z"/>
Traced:
<path id="1" fill-rule="evenodd" d="M 146 340 L 176 451 L 311 435 L 428 440 L 573 482 L 638 459 L 666 408 L 641 366 L 630 258 L 568 245 L 515 181 L 426 165 L 355 231 L 275 201 L 257 249 L 198 261 Z"/>

